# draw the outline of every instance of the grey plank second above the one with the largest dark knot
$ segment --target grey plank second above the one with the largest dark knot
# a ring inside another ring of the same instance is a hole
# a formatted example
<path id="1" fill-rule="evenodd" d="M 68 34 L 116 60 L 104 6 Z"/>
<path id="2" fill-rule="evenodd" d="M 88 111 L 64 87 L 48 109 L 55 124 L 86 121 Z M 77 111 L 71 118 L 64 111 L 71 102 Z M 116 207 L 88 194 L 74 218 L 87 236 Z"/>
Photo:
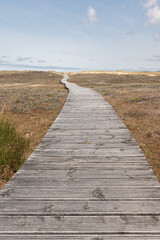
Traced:
<path id="1" fill-rule="evenodd" d="M 19 170 L 15 178 L 41 178 L 41 179 L 59 179 L 64 177 L 72 178 L 132 178 L 132 177 L 154 177 L 152 169 L 76 169 L 65 170 Z"/>

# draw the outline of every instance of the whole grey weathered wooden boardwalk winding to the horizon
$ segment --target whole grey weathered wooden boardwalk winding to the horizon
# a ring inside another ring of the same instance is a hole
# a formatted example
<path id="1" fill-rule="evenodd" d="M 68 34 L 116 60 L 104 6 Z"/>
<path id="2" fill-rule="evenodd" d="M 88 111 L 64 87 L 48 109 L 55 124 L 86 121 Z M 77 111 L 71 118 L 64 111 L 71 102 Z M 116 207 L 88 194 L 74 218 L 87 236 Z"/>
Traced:
<path id="1" fill-rule="evenodd" d="M 160 185 L 141 149 L 100 94 L 66 79 L 60 115 L 0 192 L 0 239 L 160 240 Z"/>

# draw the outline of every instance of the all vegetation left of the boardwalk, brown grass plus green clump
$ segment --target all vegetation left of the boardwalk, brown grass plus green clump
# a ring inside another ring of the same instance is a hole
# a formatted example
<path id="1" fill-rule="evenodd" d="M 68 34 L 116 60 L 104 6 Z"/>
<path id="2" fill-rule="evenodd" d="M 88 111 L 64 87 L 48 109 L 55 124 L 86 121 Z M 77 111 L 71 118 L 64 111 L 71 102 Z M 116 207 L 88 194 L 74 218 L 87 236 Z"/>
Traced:
<path id="1" fill-rule="evenodd" d="M 55 72 L 0 72 L 0 188 L 40 143 L 68 91 Z"/>

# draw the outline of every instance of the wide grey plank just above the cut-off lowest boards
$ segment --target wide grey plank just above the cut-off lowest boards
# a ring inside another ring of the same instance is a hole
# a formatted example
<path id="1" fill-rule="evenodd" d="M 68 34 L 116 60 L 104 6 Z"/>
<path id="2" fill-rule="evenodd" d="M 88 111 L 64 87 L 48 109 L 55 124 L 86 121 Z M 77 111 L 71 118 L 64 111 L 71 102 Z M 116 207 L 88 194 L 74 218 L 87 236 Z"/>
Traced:
<path id="1" fill-rule="evenodd" d="M 0 216 L 0 233 L 158 233 L 160 216 Z"/>

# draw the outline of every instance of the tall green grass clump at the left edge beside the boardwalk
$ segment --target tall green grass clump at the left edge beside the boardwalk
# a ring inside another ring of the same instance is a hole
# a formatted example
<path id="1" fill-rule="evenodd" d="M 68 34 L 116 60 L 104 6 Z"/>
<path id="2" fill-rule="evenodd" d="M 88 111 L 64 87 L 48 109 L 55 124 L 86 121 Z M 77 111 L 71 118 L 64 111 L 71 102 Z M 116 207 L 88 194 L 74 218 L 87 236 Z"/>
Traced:
<path id="1" fill-rule="evenodd" d="M 29 141 L 22 137 L 8 121 L 0 119 L 0 172 L 6 167 L 16 172 L 25 161 Z"/>

